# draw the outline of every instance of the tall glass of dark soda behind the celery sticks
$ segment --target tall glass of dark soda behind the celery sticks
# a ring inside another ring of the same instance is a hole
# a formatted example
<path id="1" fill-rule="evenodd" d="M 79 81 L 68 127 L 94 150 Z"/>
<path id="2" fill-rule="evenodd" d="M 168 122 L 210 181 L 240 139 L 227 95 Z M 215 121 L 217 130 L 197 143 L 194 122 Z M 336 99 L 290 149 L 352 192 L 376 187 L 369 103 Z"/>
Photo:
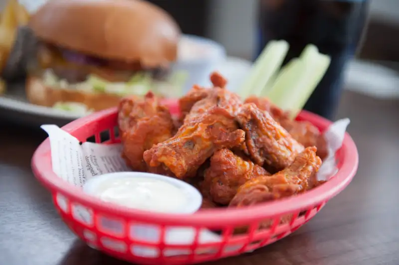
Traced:
<path id="1" fill-rule="evenodd" d="M 369 0 L 259 0 L 259 47 L 270 40 L 290 44 L 285 63 L 307 44 L 331 57 L 325 76 L 304 109 L 333 119 L 343 86 L 343 70 L 355 54 L 367 21 Z"/>

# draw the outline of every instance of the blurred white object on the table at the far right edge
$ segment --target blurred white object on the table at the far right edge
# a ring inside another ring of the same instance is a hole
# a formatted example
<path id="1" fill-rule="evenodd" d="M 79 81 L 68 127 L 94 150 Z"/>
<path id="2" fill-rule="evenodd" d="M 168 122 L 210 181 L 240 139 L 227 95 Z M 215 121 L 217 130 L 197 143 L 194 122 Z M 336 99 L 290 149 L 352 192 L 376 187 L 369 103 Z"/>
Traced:
<path id="1" fill-rule="evenodd" d="M 347 90 L 375 98 L 399 98 L 399 74 L 377 63 L 360 60 L 348 64 L 345 76 Z"/>

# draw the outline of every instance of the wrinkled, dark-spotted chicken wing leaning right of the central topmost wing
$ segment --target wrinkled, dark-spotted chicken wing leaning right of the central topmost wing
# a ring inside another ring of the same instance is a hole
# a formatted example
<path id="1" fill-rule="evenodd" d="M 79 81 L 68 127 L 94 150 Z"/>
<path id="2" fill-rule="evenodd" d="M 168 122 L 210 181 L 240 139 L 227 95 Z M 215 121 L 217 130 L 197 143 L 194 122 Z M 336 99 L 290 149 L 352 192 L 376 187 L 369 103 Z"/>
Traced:
<path id="1" fill-rule="evenodd" d="M 252 160 L 276 171 L 289 166 L 304 147 L 282 128 L 268 112 L 244 104 L 236 116 Z"/>

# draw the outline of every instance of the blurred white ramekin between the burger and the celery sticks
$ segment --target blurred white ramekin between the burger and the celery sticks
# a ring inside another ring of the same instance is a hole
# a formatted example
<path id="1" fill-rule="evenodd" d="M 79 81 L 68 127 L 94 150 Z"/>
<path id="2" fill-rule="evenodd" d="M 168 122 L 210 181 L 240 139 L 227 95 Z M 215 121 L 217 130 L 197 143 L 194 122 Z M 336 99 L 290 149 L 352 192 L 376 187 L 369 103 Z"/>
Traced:
<path id="1" fill-rule="evenodd" d="M 186 93 L 194 84 L 203 86 L 209 74 L 226 59 L 226 51 L 219 43 L 198 36 L 183 35 L 178 48 L 178 61 L 172 71 L 186 71 L 189 75 Z"/>

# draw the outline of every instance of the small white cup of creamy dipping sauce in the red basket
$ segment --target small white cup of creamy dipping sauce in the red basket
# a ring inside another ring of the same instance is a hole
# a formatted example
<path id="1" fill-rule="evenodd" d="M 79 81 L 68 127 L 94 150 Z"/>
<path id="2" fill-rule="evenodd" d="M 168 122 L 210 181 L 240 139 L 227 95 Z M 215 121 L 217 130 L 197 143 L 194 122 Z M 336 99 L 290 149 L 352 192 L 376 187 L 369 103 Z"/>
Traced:
<path id="1" fill-rule="evenodd" d="M 83 190 L 102 201 L 163 213 L 192 213 L 200 193 L 181 180 L 141 172 L 104 174 L 87 181 Z"/>

